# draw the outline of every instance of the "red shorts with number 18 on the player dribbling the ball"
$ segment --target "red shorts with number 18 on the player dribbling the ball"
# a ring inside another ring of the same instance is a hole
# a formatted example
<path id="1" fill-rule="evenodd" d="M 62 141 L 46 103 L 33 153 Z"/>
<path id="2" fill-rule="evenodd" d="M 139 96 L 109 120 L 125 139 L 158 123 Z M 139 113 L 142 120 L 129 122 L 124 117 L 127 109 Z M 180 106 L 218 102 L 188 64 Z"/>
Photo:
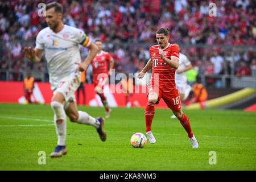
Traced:
<path id="1" fill-rule="evenodd" d="M 149 90 L 147 93 L 147 96 L 149 93 L 154 92 L 154 90 Z M 158 101 L 156 104 L 159 103 L 159 101 L 163 98 L 166 105 L 171 109 L 175 111 L 181 110 L 181 101 L 180 101 L 180 95 L 179 91 L 177 89 L 172 89 L 169 92 L 163 92 L 161 89 L 159 89 L 158 93 Z"/>

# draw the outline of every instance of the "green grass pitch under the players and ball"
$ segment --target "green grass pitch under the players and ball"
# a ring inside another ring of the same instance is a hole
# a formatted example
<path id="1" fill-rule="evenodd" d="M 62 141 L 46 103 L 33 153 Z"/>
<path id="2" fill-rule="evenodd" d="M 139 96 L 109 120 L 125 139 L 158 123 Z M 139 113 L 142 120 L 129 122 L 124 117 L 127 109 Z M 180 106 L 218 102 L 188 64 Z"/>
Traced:
<path id="1" fill-rule="evenodd" d="M 79 106 L 93 117 L 102 107 Z M 144 109 L 113 108 L 105 120 L 108 133 L 101 142 L 92 126 L 67 119 L 68 154 L 51 159 L 56 146 L 49 105 L 0 104 L 0 170 L 256 170 L 256 113 L 238 110 L 184 110 L 199 148 L 191 147 L 177 119 L 168 109 L 155 110 L 155 144 L 133 148 L 130 137 L 144 133 Z M 48 121 L 48 122 L 47 122 Z M 39 151 L 46 164 L 38 164 Z M 216 164 L 209 164 L 210 151 Z"/>

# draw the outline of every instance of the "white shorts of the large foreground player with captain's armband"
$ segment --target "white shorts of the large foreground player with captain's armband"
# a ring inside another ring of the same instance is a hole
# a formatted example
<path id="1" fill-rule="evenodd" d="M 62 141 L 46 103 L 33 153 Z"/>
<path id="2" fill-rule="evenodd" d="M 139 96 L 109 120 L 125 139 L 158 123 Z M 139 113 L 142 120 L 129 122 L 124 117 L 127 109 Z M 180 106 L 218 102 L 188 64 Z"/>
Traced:
<path id="1" fill-rule="evenodd" d="M 56 90 L 54 90 L 53 94 L 56 92 L 60 92 L 63 94 L 65 101 L 73 101 L 76 102 L 75 92 L 80 85 L 80 77 L 79 75 L 73 75 L 69 77 L 65 77 L 63 81 L 59 83 L 59 86 Z"/>

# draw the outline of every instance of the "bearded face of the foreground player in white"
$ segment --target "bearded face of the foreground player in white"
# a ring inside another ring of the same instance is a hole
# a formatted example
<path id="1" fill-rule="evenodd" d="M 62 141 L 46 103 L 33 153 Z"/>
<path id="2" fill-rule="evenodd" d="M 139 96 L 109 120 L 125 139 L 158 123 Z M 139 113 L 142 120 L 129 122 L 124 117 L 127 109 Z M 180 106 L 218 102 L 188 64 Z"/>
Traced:
<path id="1" fill-rule="evenodd" d="M 46 11 L 46 23 L 48 24 L 48 27 L 52 30 L 55 30 L 59 26 L 61 18 L 61 13 L 55 13 L 53 7 Z"/>

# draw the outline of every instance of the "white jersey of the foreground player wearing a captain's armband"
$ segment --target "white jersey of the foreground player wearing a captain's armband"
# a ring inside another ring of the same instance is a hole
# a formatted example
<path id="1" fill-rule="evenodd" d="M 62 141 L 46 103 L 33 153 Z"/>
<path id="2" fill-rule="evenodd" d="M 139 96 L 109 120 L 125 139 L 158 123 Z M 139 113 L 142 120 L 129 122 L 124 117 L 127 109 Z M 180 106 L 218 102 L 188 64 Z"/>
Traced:
<path id="1" fill-rule="evenodd" d="M 67 25 L 57 33 L 49 27 L 44 28 L 36 37 L 36 48 L 45 51 L 52 90 L 56 90 L 60 82 L 75 75 L 75 63 L 81 62 L 79 44 L 88 47 L 90 39 L 84 31 Z M 80 75 L 79 72 L 77 74 Z"/>

